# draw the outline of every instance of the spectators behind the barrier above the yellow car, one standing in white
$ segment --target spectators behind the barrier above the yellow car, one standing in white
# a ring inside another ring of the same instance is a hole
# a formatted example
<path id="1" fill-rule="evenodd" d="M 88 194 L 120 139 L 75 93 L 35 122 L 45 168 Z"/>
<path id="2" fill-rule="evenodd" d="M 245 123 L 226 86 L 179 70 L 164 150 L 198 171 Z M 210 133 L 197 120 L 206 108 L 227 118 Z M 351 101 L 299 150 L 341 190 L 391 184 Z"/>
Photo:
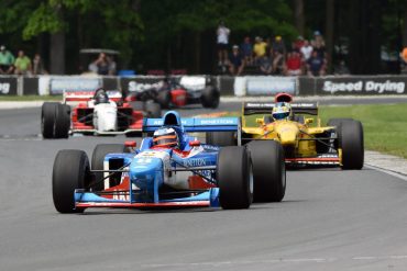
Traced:
<path id="1" fill-rule="evenodd" d="M 319 31 L 314 32 L 310 41 L 298 36 L 287 48 L 279 35 L 263 39 L 260 36 L 252 42 L 244 37 L 242 44 L 231 46 L 228 54 L 229 35 L 231 31 L 219 24 L 217 31 L 218 66 L 227 69 L 233 76 L 242 74 L 260 74 L 275 76 L 323 76 L 327 74 L 327 52 L 323 36 Z M 341 61 L 341 74 L 346 74 Z"/>

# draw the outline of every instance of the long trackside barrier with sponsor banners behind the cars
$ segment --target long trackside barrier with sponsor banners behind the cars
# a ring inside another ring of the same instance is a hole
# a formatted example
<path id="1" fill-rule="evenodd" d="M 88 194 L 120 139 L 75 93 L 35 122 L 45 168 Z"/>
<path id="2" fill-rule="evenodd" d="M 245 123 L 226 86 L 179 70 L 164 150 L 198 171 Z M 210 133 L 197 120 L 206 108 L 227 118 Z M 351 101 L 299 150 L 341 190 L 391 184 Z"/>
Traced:
<path id="1" fill-rule="evenodd" d="M 179 77 L 179 76 L 178 76 Z M 407 75 L 399 76 L 202 76 L 211 80 L 221 95 L 381 95 L 407 94 Z M 121 89 L 132 91 L 140 83 L 154 83 L 163 76 L 0 76 L 0 95 L 59 94 L 63 90 Z"/>

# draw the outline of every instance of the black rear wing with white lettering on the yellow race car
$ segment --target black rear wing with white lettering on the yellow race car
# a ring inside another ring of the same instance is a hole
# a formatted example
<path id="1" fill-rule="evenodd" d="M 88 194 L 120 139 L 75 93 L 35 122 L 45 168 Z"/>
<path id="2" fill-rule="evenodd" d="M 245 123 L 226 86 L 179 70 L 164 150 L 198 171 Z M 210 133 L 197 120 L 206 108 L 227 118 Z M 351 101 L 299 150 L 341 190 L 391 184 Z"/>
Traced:
<path id="1" fill-rule="evenodd" d="M 318 115 L 317 103 L 289 103 L 295 114 Z M 243 115 L 272 114 L 275 103 L 244 102 Z"/>

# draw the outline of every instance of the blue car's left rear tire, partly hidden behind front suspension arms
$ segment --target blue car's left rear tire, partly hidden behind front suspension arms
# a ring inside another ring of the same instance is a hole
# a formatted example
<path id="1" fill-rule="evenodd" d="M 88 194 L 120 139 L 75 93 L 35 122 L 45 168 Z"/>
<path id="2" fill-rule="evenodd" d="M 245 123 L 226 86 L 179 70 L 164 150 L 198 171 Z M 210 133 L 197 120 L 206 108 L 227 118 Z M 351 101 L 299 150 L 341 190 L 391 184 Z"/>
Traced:
<path id="1" fill-rule="evenodd" d="M 108 154 L 123 154 L 129 153 L 129 149 L 124 144 L 98 144 L 96 145 L 92 158 L 91 169 L 103 170 L 105 156 Z M 95 172 L 95 182 L 91 184 L 92 191 L 102 191 L 105 189 L 103 172 Z M 110 177 L 110 180 L 117 180 L 120 178 L 120 173 L 114 173 Z"/>

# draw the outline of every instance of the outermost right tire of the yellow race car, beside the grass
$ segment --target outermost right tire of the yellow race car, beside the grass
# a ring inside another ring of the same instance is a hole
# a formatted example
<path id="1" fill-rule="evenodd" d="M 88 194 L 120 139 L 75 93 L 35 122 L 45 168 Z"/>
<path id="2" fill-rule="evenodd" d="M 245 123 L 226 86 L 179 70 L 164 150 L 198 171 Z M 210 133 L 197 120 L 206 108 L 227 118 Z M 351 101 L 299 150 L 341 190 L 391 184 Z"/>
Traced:
<path id="1" fill-rule="evenodd" d="M 345 121 L 339 126 L 342 169 L 362 169 L 364 161 L 363 126 L 359 121 Z"/>

